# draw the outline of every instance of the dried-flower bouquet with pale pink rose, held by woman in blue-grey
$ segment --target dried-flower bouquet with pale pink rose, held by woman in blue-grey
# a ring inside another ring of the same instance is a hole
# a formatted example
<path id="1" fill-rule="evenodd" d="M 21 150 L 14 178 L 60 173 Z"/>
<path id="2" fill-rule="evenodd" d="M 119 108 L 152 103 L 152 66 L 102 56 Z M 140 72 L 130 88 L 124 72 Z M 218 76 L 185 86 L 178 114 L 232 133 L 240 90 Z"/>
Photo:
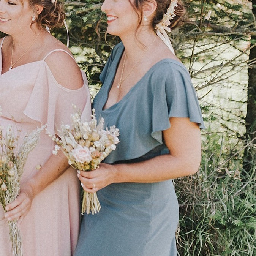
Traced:
<path id="1" fill-rule="evenodd" d="M 74 106 L 76 110 L 76 106 Z M 62 125 L 59 131 L 60 139 L 49 134 L 56 142 L 53 154 L 61 148 L 68 163 L 80 171 L 93 171 L 112 150 L 115 150 L 119 142 L 119 129 L 115 126 L 104 128 L 104 119 L 97 122 L 95 110 L 91 115 L 90 122 L 81 120 L 81 112 L 76 111 L 71 115 L 72 124 Z M 82 199 L 82 214 L 95 214 L 101 209 L 97 194 L 84 191 Z"/>

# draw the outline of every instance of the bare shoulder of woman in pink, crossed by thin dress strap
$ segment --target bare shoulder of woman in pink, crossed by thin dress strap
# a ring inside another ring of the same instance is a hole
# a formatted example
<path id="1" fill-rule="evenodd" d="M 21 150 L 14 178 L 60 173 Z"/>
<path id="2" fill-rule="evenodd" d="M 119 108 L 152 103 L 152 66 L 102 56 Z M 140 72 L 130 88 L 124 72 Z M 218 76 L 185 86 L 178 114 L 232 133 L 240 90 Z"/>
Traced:
<path id="1" fill-rule="evenodd" d="M 58 84 L 71 90 L 81 88 L 84 84 L 82 74 L 70 50 L 52 36 L 45 45 L 50 46 L 43 51 L 44 57 L 47 56 L 45 62 Z"/>

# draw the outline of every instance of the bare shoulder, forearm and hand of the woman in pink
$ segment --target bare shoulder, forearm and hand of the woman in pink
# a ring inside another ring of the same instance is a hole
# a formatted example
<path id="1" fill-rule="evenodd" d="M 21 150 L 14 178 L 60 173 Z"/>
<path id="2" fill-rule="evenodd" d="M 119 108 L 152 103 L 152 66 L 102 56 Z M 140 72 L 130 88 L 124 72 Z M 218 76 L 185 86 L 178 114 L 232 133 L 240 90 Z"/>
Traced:
<path id="1" fill-rule="evenodd" d="M 46 58 L 46 63 L 56 81 L 63 87 L 76 90 L 81 88 L 84 84 L 77 63 L 65 52 L 52 52 L 52 54 Z M 81 95 L 81 98 L 82 97 L 83 95 Z M 86 100 L 86 98 L 84 98 L 84 100 Z M 66 113 L 66 115 L 68 115 L 68 113 Z M 5 213 L 5 218 L 8 220 L 19 219 L 18 223 L 21 223 L 30 210 L 33 198 L 60 177 L 68 166 L 68 161 L 62 152 L 59 151 L 57 156 L 50 156 L 40 171 L 21 185 L 21 192 L 19 196 L 17 196 L 17 199 L 11 204 L 6 205 L 5 209 L 8 212 Z"/>

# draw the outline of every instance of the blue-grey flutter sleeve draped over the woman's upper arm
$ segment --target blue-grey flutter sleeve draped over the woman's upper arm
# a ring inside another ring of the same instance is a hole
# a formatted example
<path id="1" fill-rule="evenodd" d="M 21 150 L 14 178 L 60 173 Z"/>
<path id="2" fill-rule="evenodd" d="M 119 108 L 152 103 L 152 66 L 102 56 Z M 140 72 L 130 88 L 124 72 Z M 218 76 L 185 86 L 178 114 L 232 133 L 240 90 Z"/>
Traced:
<path id="1" fill-rule="evenodd" d="M 188 117 L 191 122 L 198 123 L 199 128 L 205 128 L 198 97 L 188 71 L 179 64 L 167 63 L 166 65 L 169 65 L 166 68 L 168 72 L 161 72 L 164 77 L 153 78 L 156 86 L 152 101 L 151 136 L 161 144 L 163 143 L 162 131 L 171 126 L 170 117 Z M 163 84 L 159 81 L 163 81 Z"/>

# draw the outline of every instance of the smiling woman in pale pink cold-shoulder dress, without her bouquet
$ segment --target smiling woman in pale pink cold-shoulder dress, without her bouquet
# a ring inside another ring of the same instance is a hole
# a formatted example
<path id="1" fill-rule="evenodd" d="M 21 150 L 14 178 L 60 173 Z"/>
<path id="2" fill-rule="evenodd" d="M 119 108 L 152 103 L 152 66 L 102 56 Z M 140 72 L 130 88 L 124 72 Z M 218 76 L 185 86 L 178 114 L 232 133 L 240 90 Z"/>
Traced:
<path id="1" fill-rule="evenodd" d="M 59 0 L 1 0 L 0 124 L 26 133 L 47 123 L 58 134 L 70 123 L 72 104 L 90 118 L 87 79 L 66 46 L 46 27 L 63 25 Z M 14 129 L 14 130 L 15 130 Z M 72 255 L 79 232 L 79 181 L 65 156 L 52 155 L 54 142 L 43 131 L 30 153 L 17 199 L 0 207 L 0 255 L 11 255 L 8 220 L 18 219 L 24 256 Z"/>

